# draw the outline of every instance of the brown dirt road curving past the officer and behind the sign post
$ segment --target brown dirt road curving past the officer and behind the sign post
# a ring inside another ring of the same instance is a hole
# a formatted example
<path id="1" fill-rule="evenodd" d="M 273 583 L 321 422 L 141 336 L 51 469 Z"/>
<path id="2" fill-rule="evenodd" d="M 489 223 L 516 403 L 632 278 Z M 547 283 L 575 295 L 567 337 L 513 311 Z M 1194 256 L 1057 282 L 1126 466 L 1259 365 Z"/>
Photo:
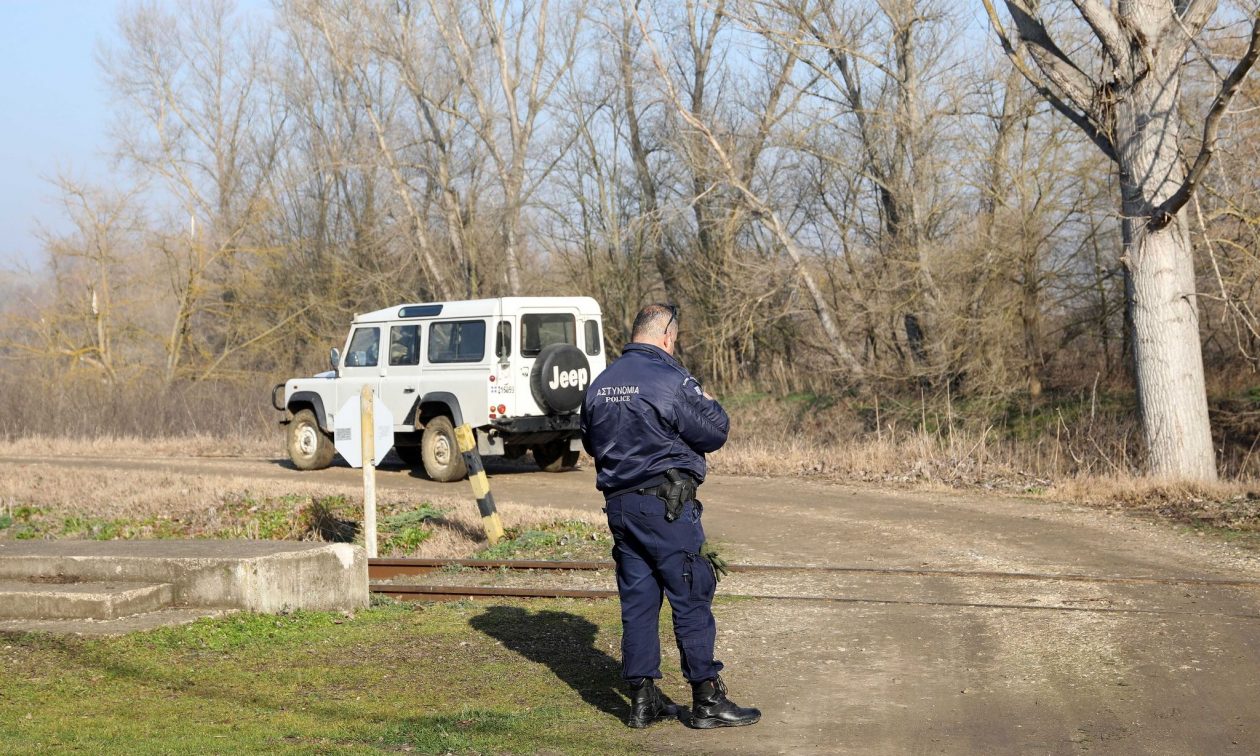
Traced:
<path id="1" fill-rule="evenodd" d="M 58 464 L 359 476 L 249 459 Z M 490 471 L 499 500 L 601 504 L 588 470 Z M 452 485 L 378 475 L 381 488 L 421 495 Z M 863 570 L 785 578 L 776 592 L 799 600 L 721 604 L 723 677 L 764 719 L 717 732 L 658 724 L 643 736 L 648 750 L 1260 753 L 1260 559 L 1250 553 L 1125 515 L 974 494 L 714 478 L 702 499 L 711 538 L 741 562 Z M 670 659 L 665 674 L 667 692 L 685 701 Z"/>

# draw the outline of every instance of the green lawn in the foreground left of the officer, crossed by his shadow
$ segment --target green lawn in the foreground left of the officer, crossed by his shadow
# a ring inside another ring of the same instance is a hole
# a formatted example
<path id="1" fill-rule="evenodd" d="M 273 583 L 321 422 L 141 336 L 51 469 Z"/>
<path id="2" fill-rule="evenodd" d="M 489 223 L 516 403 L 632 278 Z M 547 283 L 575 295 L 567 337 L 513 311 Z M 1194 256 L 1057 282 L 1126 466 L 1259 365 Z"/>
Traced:
<path id="1" fill-rule="evenodd" d="M 0 639 L 0 752 L 633 753 L 617 605 L 377 602 Z M 680 679 L 674 687 L 683 687 Z"/>

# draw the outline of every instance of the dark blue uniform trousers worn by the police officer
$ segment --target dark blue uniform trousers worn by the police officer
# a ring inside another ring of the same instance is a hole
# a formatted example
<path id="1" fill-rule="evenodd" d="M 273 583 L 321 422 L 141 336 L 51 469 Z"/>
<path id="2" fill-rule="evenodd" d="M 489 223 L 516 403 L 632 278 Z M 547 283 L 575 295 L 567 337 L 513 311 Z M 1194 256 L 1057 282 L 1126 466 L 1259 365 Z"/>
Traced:
<path id="1" fill-rule="evenodd" d="M 699 556 L 704 528 L 696 503 L 684 504 L 672 523 L 665 522 L 665 503 L 643 494 L 614 496 L 605 512 L 621 595 L 621 677 L 660 678 L 663 595 L 674 615 L 683 677 L 689 682 L 717 677 L 722 670 L 722 663 L 713 659 L 717 578 L 708 559 Z"/>

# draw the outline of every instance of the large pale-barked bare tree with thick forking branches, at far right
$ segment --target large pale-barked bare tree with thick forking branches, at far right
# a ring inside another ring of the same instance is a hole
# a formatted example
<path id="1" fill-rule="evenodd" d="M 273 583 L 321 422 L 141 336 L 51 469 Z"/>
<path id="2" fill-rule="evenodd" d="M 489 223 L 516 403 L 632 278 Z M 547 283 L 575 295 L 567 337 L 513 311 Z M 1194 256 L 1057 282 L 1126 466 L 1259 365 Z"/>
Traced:
<path id="1" fill-rule="evenodd" d="M 1011 60 L 1119 171 L 1121 261 L 1150 472 L 1215 480 L 1194 267 L 1182 210 L 1216 150 L 1221 118 L 1260 54 L 1260 18 L 1251 23 L 1247 50 L 1220 82 L 1187 170 L 1178 112 L 1184 105 L 1182 72 L 1215 1 L 1131 0 L 1108 6 L 1072 0 L 1076 19 L 1092 37 L 1094 45 L 1084 50 L 1092 59 L 1063 49 L 1037 4 L 1004 3 L 1019 47 L 992 0 L 984 0 Z M 1063 34 L 1058 32 L 1060 38 Z"/>

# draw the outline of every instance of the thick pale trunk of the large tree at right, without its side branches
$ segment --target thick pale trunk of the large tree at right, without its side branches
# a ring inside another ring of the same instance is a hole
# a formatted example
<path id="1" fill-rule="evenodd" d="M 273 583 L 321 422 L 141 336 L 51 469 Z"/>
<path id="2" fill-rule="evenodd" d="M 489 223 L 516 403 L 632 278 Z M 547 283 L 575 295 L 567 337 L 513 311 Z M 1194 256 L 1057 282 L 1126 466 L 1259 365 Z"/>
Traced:
<path id="1" fill-rule="evenodd" d="M 1198 340 L 1194 260 L 1184 213 L 1163 228 L 1153 209 L 1186 178 L 1178 154 L 1179 60 L 1159 60 L 1115 112 L 1126 287 L 1138 408 L 1153 476 L 1216 480 Z"/>

